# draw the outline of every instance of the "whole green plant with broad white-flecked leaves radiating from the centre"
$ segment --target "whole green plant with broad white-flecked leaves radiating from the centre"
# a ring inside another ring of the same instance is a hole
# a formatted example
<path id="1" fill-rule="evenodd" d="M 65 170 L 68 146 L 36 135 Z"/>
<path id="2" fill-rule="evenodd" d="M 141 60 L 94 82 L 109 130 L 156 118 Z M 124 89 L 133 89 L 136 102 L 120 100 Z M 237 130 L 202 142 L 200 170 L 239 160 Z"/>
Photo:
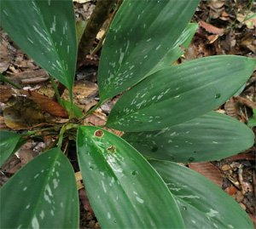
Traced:
<path id="1" fill-rule="evenodd" d="M 67 87 L 72 104 L 77 56 L 72 1 L 1 3 L 3 30 Z M 230 157 L 253 145 L 247 126 L 212 110 L 246 83 L 256 60 L 221 55 L 173 64 L 195 33 L 189 20 L 198 3 L 122 3 L 103 45 L 96 107 L 123 93 L 106 127 L 125 135 L 70 118 L 56 147 L 2 187 L 1 228 L 79 227 L 73 166 L 61 152 L 70 129 L 77 129 L 79 168 L 102 228 L 253 228 L 218 186 L 178 164 Z M 1 131 L 1 165 L 38 131 Z"/>

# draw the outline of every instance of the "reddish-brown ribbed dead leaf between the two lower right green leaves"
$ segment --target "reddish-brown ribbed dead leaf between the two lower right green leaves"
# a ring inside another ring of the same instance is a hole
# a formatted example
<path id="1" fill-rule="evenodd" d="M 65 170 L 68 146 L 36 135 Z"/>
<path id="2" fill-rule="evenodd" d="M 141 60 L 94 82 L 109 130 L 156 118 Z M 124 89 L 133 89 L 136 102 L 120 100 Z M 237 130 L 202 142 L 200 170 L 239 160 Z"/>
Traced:
<path id="1" fill-rule="evenodd" d="M 216 185 L 222 186 L 223 178 L 216 166 L 212 163 L 189 163 L 189 168 L 212 180 Z"/>

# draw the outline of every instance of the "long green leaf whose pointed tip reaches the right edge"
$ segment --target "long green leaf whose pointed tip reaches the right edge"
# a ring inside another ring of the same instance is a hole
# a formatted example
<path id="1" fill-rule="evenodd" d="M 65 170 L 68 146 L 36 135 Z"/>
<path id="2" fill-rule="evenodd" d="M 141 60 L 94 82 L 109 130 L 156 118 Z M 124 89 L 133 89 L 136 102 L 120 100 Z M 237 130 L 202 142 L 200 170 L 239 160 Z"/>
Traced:
<path id="1" fill-rule="evenodd" d="M 125 92 L 108 126 L 124 131 L 163 129 L 222 105 L 253 73 L 256 61 L 220 55 L 166 67 Z"/>

